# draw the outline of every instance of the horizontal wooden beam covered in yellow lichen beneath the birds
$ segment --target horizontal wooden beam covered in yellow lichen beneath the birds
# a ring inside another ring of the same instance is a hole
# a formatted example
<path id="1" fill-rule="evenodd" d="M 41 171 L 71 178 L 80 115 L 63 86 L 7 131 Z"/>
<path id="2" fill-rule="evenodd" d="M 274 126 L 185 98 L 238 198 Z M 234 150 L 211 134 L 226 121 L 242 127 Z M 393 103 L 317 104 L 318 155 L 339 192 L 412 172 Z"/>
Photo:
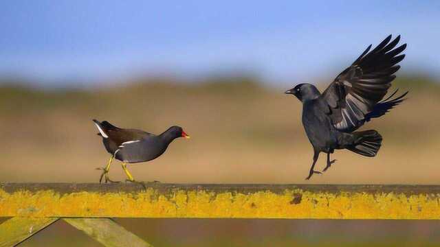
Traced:
<path id="1" fill-rule="evenodd" d="M 0 184 L 0 217 L 440 219 L 440 186 Z"/>

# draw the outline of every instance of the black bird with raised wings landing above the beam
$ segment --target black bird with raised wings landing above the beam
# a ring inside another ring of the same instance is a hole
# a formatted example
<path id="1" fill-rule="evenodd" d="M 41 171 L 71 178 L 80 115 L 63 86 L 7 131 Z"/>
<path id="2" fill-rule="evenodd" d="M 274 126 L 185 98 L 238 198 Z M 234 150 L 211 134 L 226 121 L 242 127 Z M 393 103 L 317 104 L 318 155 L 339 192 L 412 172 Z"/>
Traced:
<path id="1" fill-rule="evenodd" d="M 335 162 L 330 161 L 330 154 L 336 149 L 368 157 L 377 154 L 382 136 L 376 130 L 353 131 L 404 101 L 408 92 L 393 98 L 397 90 L 383 99 L 396 77 L 394 73 L 400 69 L 397 63 L 405 57 L 401 52 L 406 44 L 396 48 L 399 40 L 397 36 L 391 41 L 390 35 L 371 51 L 369 45 L 324 93 L 311 84 L 298 84 L 285 92 L 303 102 L 303 126 L 314 148 L 314 161 L 306 179 L 321 173 L 314 170 L 320 152 L 327 153 L 327 166 L 322 172 Z"/>

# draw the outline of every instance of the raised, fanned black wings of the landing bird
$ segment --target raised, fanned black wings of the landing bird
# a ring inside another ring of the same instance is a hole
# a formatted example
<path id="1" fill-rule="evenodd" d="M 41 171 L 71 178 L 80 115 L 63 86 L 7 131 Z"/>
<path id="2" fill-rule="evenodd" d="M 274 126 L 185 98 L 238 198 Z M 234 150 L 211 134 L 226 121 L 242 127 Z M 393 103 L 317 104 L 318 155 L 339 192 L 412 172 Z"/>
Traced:
<path id="1" fill-rule="evenodd" d="M 369 45 L 322 93 L 335 128 L 343 132 L 356 130 L 365 121 L 384 115 L 404 100 L 406 93 L 391 99 L 393 93 L 382 100 L 395 79 L 394 73 L 400 69 L 396 64 L 405 57 L 400 53 L 406 44 L 395 48 L 399 40 L 397 36 L 391 41 L 390 35 L 371 51 Z"/>

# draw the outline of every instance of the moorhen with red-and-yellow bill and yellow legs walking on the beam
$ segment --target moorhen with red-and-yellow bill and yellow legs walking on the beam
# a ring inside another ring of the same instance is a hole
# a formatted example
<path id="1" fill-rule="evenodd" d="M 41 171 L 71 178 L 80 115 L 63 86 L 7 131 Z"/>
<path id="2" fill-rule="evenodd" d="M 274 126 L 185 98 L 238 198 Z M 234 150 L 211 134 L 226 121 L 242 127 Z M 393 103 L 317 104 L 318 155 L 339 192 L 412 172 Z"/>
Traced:
<path id="1" fill-rule="evenodd" d="M 122 168 L 126 172 L 128 180 L 133 182 L 133 176 L 126 169 L 126 163 L 151 161 L 163 154 L 174 139 L 189 138 L 188 134 L 179 126 L 172 126 L 162 134 L 155 135 L 143 130 L 118 128 L 108 121 L 100 122 L 95 119 L 93 121 L 99 130 L 98 135 L 102 137 L 105 149 L 111 154 L 107 167 L 102 169 L 104 172 L 100 182 L 104 175 L 106 183 L 107 181 L 112 182 L 108 173 L 113 158 L 123 162 Z"/>

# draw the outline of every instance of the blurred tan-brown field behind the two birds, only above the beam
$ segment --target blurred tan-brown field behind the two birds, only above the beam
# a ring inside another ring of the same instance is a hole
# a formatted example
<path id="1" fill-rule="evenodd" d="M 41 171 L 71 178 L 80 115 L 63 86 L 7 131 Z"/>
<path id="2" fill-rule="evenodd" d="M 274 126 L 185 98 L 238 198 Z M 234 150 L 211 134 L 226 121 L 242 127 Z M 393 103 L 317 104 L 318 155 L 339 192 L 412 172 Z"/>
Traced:
<path id="1" fill-rule="evenodd" d="M 0 180 L 97 182 L 95 168 L 109 154 L 96 136 L 96 118 L 153 133 L 177 124 L 191 135 L 155 161 L 130 165 L 137 180 L 305 183 L 312 150 L 300 123 L 300 102 L 284 95 L 285 89 L 263 85 L 247 77 L 190 83 L 152 78 L 50 91 L 3 84 Z M 408 100 L 363 127 L 384 137 L 378 156 L 338 150 L 337 163 L 310 183 L 438 183 L 440 86 L 402 76 L 394 86 L 410 90 Z M 321 155 L 318 166 L 324 165 Z M 124 179 L 118 162 L 111 177 Z"/>

